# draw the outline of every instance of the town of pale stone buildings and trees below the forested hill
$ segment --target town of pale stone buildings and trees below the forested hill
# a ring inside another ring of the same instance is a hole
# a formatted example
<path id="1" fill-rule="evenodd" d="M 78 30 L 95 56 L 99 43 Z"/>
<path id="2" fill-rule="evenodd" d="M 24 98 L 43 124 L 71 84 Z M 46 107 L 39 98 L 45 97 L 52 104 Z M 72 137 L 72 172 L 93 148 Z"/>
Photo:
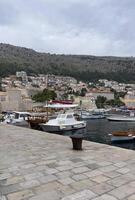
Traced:
<path id="1" fill-rule="evenodd" d="M 69 76 L 18 71 L 1 79 L 0 111 L 33 111 L 46 101 L 68 101 L 82 109 L 135 108 L 135 84 L 100 79 L 82 82 Z"/>

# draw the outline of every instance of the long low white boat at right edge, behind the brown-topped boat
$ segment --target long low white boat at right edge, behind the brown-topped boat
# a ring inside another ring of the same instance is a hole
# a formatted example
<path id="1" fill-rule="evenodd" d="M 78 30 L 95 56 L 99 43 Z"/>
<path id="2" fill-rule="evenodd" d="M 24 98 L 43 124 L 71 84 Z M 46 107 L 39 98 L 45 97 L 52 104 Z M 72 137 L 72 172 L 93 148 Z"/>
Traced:
<path id="1" fill-rule="evenodd" d="M 109 121 L 116 121 L 116 122 L 135 122 L 134 116 L 128 116 L 128 115 L 113 115 L 107 117 Z"/>

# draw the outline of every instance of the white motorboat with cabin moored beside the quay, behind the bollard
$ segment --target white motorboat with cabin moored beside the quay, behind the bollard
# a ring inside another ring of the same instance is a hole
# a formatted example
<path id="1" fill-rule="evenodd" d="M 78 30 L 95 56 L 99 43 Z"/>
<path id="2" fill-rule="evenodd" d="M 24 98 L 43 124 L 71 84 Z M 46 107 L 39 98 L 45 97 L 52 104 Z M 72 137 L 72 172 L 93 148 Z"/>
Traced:
<path id="1" fill-rule="evenodd" d="M 82 129 L 86 127 L 85 121 L 77 121 L 73 113 L 59 114 L 56 119 L 50 119 L 46 124 L 40 124 L 43 131 L 61 132 Z"/>

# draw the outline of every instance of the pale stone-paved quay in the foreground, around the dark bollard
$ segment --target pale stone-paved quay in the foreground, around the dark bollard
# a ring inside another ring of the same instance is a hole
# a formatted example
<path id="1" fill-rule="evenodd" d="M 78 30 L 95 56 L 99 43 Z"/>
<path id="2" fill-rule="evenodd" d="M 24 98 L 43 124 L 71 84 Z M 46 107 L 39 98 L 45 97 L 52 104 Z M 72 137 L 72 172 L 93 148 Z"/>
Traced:
<path id="1" fill-rule="evenodd" d="M 0 125 L 0 200 L 135 200 L 135 151 Z"/>

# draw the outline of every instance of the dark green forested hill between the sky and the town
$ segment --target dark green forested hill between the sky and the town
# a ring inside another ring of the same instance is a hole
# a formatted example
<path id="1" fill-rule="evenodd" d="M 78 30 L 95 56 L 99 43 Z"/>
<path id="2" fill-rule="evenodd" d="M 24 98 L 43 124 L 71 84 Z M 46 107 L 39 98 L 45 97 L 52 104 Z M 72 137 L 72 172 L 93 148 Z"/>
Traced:
<path id="1" fill-rule="evenodd" d="M 15 74 L 18 70 L 28 74 L 70 75 L 84 81 L 108 78 L 133 82 L 135 58 L 56 55 L 1 43 L 0 76 Z"/>

